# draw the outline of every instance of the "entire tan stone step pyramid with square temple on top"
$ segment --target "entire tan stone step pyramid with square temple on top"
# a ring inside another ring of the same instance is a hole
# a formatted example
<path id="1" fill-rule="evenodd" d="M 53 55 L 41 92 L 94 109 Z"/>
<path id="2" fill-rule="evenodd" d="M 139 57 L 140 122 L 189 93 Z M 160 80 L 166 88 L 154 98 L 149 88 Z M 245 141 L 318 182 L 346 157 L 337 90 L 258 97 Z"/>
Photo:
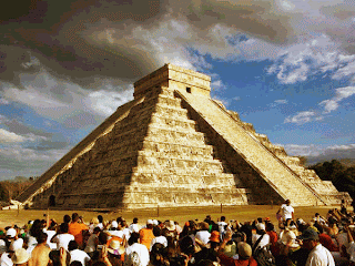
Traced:
<path id="1" fill-rule="evenodd" d="M 210 82 L 172 64 L 139 80 L 133 101 L 17 201 L 67 209 L 351 201 L 212 100 Z"/>

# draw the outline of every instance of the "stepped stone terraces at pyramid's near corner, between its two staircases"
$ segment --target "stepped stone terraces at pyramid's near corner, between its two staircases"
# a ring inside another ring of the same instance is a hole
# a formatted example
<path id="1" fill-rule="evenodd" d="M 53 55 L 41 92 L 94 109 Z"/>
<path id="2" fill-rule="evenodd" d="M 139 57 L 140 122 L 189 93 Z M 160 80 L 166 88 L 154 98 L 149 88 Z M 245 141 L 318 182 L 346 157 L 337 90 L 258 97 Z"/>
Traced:
<path id="1" fill-rule="evenodd" d="M 173 90 L 158 86 L 36 202 L 44 207 L 55 194 L 57 206 L 69 208 L 110 208 L 118 202 L 131 208 L 253 203 L 251 191 L 226 172 L 206 142 Z"/>

